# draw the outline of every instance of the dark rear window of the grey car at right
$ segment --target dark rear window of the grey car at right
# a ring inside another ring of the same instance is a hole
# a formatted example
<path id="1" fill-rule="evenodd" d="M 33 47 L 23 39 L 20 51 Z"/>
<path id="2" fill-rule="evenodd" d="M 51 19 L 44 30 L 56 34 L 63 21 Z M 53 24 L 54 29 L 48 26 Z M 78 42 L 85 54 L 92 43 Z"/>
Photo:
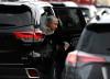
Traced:
<path id="1" fill-rule="evenodd" d="M 87 26 L 77 45 L 78 50 L 110 55 L 110 24 Z"/>

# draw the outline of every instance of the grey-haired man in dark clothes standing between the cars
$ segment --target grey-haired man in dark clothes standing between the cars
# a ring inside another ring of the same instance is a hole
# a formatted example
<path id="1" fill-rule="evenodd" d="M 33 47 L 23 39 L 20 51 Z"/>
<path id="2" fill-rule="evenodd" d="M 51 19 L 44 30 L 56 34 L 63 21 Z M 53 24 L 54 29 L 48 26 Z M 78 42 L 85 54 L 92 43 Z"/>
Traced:
<path id="1" fill-rule="evenodd" d="M 56 68 L 56 78 L 61 79 L 62 70 L 65 63 L 65 49 L 67 49 L 67 42 L 64 42 L 58 35 L 58 19 L 56 16 L 47 16 L 45 20 L 45 25 L 42 29 L 44 32 L 45 40 L 44 45 L 46 46 L 46 57 L 43 61 L 45 66 L 45 74 L 47 74 L 46 79 L 54 79 L 54 69 Z"/>

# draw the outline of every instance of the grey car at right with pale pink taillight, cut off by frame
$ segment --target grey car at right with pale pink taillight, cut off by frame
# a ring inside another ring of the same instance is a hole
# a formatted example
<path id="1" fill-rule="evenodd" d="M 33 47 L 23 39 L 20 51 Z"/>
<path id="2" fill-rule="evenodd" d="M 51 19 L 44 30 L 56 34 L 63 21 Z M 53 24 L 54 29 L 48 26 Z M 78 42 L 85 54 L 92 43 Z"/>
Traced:
<path id="1" fill-rule="evenodd" d="M 65 63 L 64 79 L 110 78 L 110 15 L 94 18 Z"/>

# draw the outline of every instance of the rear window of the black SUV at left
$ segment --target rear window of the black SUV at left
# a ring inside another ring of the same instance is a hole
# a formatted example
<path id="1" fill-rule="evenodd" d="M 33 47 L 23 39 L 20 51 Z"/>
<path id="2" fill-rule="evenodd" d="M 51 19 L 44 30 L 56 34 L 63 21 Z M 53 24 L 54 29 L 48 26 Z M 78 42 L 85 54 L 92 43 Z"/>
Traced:
<path id="1" fill-rule="evenodd" d="M 0 27 L 32 24 L 32 13 L 26 5 L 0 5 Z"/>

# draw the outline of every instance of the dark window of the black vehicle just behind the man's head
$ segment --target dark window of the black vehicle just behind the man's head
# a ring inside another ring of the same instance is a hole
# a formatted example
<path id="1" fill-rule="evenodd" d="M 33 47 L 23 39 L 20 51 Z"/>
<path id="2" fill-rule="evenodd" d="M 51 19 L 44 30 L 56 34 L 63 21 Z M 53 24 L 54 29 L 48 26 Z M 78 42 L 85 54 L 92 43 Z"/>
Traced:
<path id="1" fill-rule="evenodd" d="M 54 8 L 56 16 L 61 19 L 63 27 L 66 30 L 80 29 L 80 19 L 78 8 L 66 8 L 66 7 L 55 7 Z"/>

